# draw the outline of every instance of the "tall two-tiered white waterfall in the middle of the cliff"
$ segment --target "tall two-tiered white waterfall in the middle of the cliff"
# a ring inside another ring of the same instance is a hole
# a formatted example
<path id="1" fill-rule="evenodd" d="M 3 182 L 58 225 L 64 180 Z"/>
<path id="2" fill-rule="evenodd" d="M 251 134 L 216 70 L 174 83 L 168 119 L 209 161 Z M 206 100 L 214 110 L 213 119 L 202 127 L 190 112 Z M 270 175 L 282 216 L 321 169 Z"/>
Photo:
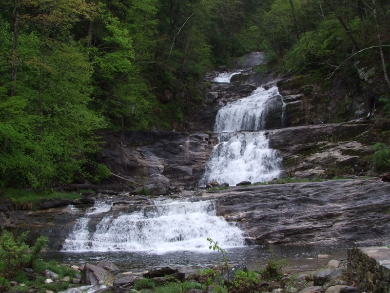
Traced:
<path id="1" fill-rule="evenodd" d="M 259 87 L 249 97 L 218 111 L 214 126 L 219 133 L 218 143 L 199 185 L 210 181 L 229 185 L 241 181 L 264 182 L 279 175 L 281 159 L 269 147 L 264 132 L 258 131 L 264 128 L 267 107 L 276 97 L 280 97 L 276 86 Z"/>

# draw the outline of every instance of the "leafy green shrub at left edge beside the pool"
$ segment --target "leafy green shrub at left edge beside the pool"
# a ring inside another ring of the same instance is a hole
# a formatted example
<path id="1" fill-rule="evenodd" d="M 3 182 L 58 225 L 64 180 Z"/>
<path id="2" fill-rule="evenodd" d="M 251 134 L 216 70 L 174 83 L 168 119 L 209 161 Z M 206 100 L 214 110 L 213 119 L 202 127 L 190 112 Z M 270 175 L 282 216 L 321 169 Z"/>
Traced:
<path id="1" fill-rule="evenodd" d="M 30 249 L 25 243 L 28 232 L 15 237 L 4 228 L 0 236 L 0 275 L 12 278 L 21 269 L 33 265 L 39 256 L 41 249 L 46 246 L 47 237 L 41 236 L 36 244 Z"/>

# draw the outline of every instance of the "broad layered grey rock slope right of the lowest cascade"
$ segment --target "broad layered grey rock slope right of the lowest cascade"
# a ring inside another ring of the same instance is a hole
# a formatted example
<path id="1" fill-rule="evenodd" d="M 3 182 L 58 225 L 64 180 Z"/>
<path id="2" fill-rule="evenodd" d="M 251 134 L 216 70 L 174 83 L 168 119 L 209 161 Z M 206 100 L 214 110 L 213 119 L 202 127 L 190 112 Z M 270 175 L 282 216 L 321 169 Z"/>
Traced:
<path id="1" fill-rule="evenodd" d="M 248 243 L 384 243 L 390 185 L 376 179 L 251 186 L 218 191 L 217 215 Z"/>

